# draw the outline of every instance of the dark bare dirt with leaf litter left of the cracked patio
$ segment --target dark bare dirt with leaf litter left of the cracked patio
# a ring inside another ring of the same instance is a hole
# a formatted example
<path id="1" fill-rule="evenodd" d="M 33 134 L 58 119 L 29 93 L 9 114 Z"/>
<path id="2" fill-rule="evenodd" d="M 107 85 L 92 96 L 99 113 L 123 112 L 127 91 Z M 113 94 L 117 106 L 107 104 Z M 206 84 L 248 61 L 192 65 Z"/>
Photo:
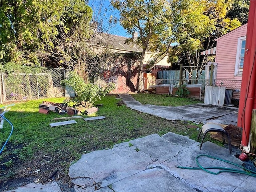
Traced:
<path id="1" fill-rule="evenodd" d="M 19 159 L 18 154 L 13 154 L 22 147 L 22 144 L 15 145 L 8 142 L 2 153 L 10 154 L 4 154 L 4 157 L 1 157 L 1 192 L 32 182 L 45 183 L 53 180 L 60 184 L 63 192 L 73 192 L 73 185 L 68 176 L 68 165 L 73 160 L 72 157 L 65 152 L 43 154 L 38 151 L 34 159 L 24 162 Z M 56 169 L 58 169 L 56 174 L 50 177 Z"/>

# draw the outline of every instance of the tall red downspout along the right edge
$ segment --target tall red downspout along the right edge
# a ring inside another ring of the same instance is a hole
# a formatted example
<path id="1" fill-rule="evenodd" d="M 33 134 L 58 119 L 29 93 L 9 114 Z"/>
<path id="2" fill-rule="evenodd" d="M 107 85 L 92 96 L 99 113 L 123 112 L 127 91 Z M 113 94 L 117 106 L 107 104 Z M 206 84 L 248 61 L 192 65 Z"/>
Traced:
<path id="1" fill-rule="evenodd" d="M 256 1 L 254 0 L 250 0 L 245 48 L 246 51 L 244 55 L 244 68 L 237 123 L 238 127 L 243 128 L 241 142 L 242 147 L 248 146 L 252 121 L 252 109 L 256 108 Z"/>

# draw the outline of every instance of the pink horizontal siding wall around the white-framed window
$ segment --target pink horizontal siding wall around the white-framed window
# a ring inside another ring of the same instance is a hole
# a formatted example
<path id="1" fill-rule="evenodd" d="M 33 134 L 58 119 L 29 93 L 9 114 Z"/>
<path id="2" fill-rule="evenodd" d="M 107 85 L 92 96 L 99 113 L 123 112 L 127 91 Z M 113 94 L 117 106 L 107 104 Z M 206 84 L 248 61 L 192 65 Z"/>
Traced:
<path id="1" fill-rule="evenodd" d="M 218 63 L 218 66 L 216 79 L 242 80 L 242 76 L 234 76 L 234 73 L 238 38 L 246 36 L 246 30 L 247 24 L 244 24 L 217 39 L 215 62 Z"/>

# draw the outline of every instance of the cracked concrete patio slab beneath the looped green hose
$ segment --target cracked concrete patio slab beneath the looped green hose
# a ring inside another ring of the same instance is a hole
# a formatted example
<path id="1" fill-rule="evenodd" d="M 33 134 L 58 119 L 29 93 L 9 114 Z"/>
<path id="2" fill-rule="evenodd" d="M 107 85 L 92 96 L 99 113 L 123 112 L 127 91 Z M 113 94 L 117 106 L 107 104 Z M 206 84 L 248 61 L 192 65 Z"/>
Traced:
<path id="1" fill-rule="evenodd" d="M 198 167 L 196 164 L 196 156 L 200 154 L 218 157 L 242 165 L 242 161 L 235 158 L 233 155 L 230 155 L 228 149 L 217 146 L 211 142 L 205 142 L 202 146 L 202 150 L 199 149 L 199 146 L 190 148 L 190 150 L 184 149 L 176 157 L 163 162 L 161 165 L 168 167 L 170 172 L 176 178 L 186 181 L 189 186 L 196 188 L 198 191 L 230 192 L 234 191 L 238 186 L 240 186 L 240 189 L 242 189 L 241 191 L 246 189 L 241 185 L 242 181 L 248 178 L 248 176 L 244 174 L 224 172 L 214 175 L 203 170 L 187 170 L 176 167 L 177 165 L 184 167 Z M 206 158 L 204 156 L 198 158 L 198 160 L 203 167 L 226 167 L 240 169 L 231 164 L 227 164 L 226 162 Z M 218 172 L 219 170 L 213 169 L 211 171 Z M 256 186 L 252 186 L 250 188 L 250 191 L 254 190 L 256 190 Z"/>

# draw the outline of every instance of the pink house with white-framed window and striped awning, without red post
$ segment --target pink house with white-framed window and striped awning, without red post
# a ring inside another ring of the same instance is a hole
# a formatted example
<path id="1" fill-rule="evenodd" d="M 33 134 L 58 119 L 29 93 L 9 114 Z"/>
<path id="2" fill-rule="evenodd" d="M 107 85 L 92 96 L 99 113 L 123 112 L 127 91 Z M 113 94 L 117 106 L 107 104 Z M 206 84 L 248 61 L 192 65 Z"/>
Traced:
<path id="1" fill-rule="evenodd" d="M 246 54 L 246 30 L 247 24 L 244 24 L 217 38 L 215 48 L 201 52 L 201 55 L 216 55 L 215 85 L 224 86 L 226 90 L 230 90 L 234 104 L 238 104 L 241 92 L 244 54 Z"/>

